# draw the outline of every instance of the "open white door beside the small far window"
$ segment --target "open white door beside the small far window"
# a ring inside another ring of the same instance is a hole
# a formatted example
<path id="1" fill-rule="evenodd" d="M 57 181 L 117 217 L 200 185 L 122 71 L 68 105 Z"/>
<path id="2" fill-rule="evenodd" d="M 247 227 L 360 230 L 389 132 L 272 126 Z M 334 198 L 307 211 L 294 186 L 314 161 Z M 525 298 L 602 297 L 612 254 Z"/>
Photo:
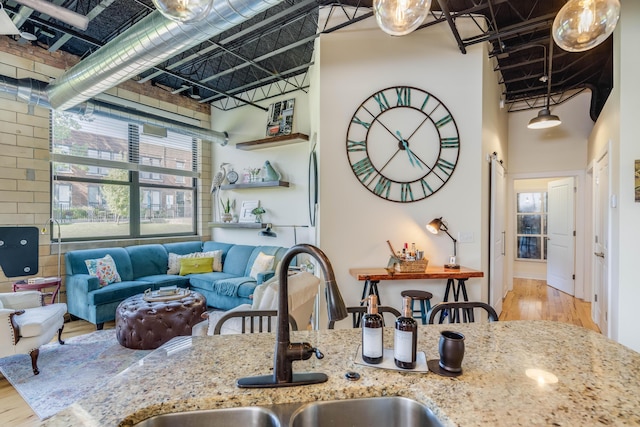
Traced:
<path id="1" fill-rule="evenodd" d="M 549 182 L 547 194 L 547 284 L 574 295 L 573 177 Z"/>

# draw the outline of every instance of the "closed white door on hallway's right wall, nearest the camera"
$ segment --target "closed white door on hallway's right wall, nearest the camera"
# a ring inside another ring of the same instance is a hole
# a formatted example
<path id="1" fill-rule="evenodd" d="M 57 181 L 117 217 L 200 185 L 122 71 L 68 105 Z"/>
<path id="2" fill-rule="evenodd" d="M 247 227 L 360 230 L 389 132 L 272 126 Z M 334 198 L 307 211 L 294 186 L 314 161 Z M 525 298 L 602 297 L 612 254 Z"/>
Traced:
<path id="1" fill-rule="evenodd" d="M 594 188 L 594 296 L 593 320 L 600 331 L 609 336 L 609 155 L 605 154 L 596 163 Z"/>

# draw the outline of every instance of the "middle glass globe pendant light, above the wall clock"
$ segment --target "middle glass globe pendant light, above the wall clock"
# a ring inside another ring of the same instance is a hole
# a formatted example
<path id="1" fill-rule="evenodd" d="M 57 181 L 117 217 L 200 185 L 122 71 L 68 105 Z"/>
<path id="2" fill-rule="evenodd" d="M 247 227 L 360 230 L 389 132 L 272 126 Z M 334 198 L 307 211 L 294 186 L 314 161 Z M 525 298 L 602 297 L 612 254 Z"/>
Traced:
<path id="1" fill-rule="evenodd" d="M 418 28 L 431 10 L 431 0 L 373 0 L 373 12 L 382 31 L 404 36 Z"/>

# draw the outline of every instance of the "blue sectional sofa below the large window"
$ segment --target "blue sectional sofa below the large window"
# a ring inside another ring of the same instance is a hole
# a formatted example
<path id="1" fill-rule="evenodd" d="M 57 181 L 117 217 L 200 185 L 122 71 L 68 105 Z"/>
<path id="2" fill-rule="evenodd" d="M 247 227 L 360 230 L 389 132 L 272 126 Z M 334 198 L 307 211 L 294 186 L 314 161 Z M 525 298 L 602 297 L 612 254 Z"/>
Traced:
<path id="1" fill-rule="evenodd" d="M 222 271 L 180 276 L 167 274 L 169 254 L 222 251 Z M 75 317 L 88 320 L 102 329 L 104 322 L 115 319 L 116 308 L 124 299 L 176 285 L 200 292 L 207 305 L 229 310 L 240 304 L 251 304 L 250 295 L 260 283 L 275 274 L 275 268 L 287 248 L 279 246 L 234 245 L 221 242 L 179 242 L 128 246 L 124 248 L 83 249 L 65 254 L 67 306 Z M 273 269 L 250 277 L 254 261 L 260 254 L 273 255 Z M 121 281 L 100 286 L 98 278 L 89 274 L 86 260 L 110 255 Z"/>

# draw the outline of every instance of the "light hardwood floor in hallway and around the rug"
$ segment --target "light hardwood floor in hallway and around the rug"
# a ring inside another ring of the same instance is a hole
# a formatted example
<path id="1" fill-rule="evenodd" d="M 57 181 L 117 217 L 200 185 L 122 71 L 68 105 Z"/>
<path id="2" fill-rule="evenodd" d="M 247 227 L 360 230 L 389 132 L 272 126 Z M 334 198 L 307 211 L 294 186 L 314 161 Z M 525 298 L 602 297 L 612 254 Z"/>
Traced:
<path id="1" fill-rule="evenodd" d="M 591 304 L 558 291 L 542 280 L 515 279 L 503 303 L 500 320 L 556 320 L 600 332 L 591 321 Z M 106 323 L 105 328 L 113 328 Z M 93 332 L 95 326 L 82 321 L 65 324 L 63 339 Z M 30 363 L 25 356 L 25 363 Z M 40 369 L 46 369 L 40 366 Z M 0 424 L 3 426 L 39 426 L 38 417 L 9 382 L 0 375 Z"/>

